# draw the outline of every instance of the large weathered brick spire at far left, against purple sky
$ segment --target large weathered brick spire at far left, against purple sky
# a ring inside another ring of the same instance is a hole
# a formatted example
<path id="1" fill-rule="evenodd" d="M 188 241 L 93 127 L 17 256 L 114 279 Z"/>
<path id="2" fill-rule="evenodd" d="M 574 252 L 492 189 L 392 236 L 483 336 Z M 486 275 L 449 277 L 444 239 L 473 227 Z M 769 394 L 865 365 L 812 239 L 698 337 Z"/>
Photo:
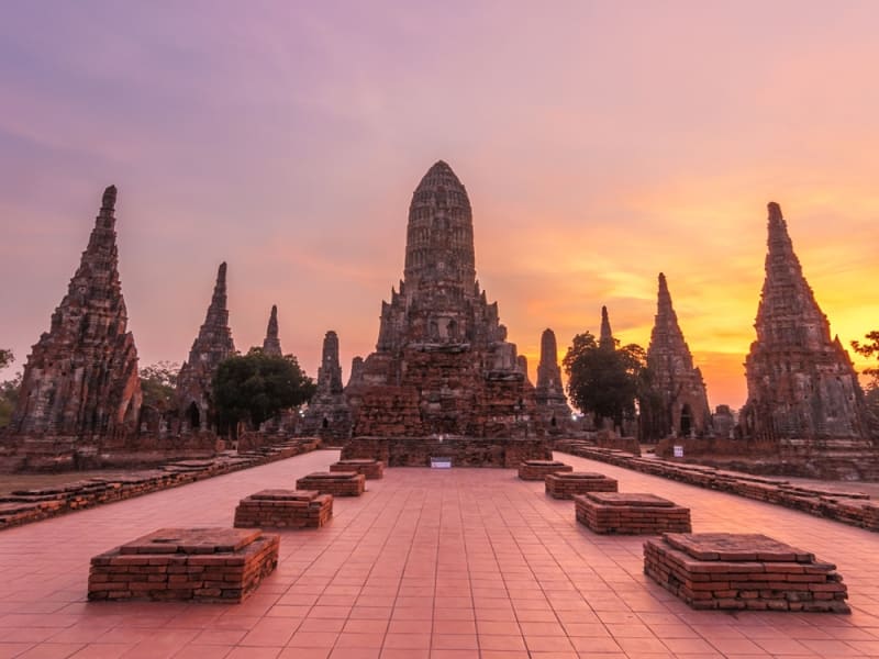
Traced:
<path id="1" fill-rule="evenodd" d="M 141 381 L 119 280 L 115 201 L 110 186 L 67 294 L 27 358 L 13 434 L 87 439 L 137 428 Z"/>

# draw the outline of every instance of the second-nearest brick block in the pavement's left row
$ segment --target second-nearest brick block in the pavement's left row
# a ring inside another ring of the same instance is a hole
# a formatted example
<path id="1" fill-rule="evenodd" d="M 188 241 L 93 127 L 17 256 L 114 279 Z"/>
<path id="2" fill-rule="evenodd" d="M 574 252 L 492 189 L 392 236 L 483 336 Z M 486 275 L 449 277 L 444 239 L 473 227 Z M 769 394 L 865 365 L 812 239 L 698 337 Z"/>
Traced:
<path id="1" fill-rule="evenodd" d="M 235 526 L 320 528 L 333 516 L 333 495 L 315 490 L 262 490 L 242 499 Z"/>

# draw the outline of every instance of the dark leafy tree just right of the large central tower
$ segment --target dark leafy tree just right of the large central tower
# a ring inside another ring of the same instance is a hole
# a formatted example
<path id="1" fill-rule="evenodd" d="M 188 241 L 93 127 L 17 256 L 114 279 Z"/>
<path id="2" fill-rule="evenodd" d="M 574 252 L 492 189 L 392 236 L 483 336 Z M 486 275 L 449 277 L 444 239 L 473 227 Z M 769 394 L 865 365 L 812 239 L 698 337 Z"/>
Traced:
<path id="1" fill-rule="evenodd" d="M 609 349 L 585 332 L 574 337 L 561 364 L 568 376 L 568 395 L 581 412 L 612 418 L 617 426 L 624 417 L 634 416 L 635 401 L 648 375 L 644 348 L 628 344 Z"/>

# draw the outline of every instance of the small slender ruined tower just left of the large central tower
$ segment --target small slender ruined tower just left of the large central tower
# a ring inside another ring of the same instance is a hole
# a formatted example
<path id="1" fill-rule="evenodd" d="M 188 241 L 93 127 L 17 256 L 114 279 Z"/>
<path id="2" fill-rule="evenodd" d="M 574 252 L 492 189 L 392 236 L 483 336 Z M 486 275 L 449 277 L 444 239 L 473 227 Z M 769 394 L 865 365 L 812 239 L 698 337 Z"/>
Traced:
<path id="1" fill-rule="evenodd" d="M 302 418 L 301 434 L 329 442 L 351 437 L 351 405 L 342 388 L 342 367 L 338 362 L 338 336 L 332 330 L 323 338 L 321 366 L 318 368 L 318 391 L 309 402 Z"/>

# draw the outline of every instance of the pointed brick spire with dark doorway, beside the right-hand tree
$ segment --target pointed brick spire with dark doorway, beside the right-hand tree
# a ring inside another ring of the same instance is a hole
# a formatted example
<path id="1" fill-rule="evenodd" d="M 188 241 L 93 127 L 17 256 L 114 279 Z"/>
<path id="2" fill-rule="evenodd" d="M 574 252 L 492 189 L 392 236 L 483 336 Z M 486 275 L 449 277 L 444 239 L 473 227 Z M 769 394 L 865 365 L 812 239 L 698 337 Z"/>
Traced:
<path id="1" fill-rule="evenodd" d="M 711 410 L 702 373 L 693 358 L 678 316 L 671 306 L 666 276 L 659 272 L 656 320 L 647 348 L 647 367 L 653 373 L 656 405 L 652 410 L 648 438 L 702 436 L 711 427 Z M 643 414 L 646 420 L 647 415 Z"/>

